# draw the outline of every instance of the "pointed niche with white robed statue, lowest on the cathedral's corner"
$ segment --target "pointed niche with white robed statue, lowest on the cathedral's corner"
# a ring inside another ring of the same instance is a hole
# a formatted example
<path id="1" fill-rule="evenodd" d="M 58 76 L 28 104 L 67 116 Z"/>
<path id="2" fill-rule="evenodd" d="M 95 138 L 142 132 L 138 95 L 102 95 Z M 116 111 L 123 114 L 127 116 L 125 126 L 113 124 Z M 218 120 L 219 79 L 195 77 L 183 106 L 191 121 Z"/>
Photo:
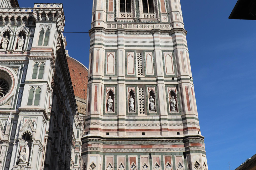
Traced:
<path id="1" fill-rule="evenodd" d="M 24 145 L 20 147 L 20 152 L 18 157 L 19 166 L 28 166 L 29 155 L 30 155 L 29 144 L 31 144 L 31 141 L 32 141 L 31 135 L 29 132 L 26 132 L 22 135 L 21 143 L 24 143 Z"/>

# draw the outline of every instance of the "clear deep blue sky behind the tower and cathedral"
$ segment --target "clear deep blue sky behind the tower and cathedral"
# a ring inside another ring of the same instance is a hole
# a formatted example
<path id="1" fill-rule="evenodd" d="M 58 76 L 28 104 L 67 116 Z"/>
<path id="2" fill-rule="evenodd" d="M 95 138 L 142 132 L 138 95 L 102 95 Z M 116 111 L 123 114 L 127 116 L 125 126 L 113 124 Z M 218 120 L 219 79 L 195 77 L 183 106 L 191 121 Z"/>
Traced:
<path id="1" fill-rule="evenodd" d="M 63 3 L 65 32 L 90 29 L 92 0 Z M 231 170 L 256 154 L 256 21 L 228 19 L 237 0 L 181 0 L 200 128 L 209 170 Z M 33 7 L 31 0 L 19 0 Z M 70 56 L 88 67 L 88 34 L 65 34 Z"/>

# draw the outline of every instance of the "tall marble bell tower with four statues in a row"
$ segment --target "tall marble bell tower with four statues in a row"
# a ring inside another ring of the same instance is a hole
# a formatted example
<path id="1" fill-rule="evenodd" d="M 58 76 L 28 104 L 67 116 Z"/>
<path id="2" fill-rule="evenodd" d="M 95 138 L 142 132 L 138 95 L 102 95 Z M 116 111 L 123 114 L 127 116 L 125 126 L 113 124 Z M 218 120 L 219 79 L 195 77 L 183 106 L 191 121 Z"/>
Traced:
<path id="1" fill-rule="evenodd" d="M 179 0 L 94 0 L 83 170 L 207 170 Z"/>

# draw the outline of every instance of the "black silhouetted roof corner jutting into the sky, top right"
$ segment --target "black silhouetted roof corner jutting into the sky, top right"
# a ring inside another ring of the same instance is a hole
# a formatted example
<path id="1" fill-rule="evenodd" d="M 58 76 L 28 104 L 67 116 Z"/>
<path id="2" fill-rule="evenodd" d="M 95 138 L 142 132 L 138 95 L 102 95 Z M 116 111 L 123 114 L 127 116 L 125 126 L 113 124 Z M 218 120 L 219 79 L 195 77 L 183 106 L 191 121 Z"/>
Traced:
<path id="1" fill-rule="evenodd" d="M 229 19 L 256 20 L 256 1 L 238 0 Z"/>

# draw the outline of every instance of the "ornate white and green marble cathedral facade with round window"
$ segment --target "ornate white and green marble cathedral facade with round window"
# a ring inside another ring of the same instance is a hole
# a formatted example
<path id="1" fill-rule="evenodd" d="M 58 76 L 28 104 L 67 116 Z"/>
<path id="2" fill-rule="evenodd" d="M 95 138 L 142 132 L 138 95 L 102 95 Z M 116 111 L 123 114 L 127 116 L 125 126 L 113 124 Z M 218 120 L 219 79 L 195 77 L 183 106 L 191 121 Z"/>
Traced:
<path id="1" fill-rule="evenodd" d="M 62 4 L 0 5 L 0 170 L 81 170 Z"/>

